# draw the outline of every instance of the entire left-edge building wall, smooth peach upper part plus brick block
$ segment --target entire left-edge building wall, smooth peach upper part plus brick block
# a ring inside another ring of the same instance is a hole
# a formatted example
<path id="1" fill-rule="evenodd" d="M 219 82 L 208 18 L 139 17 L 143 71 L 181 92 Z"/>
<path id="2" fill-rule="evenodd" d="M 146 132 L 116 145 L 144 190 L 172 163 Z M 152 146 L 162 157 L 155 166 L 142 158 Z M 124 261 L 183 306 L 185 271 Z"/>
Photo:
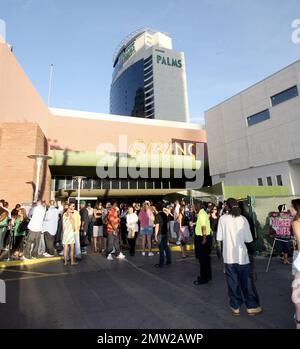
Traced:
<path id="1" fill-rule="evenodd" d="M 50 112 L 9 46 L 0 43 L 0 197 L 10 208 L 33 199 L 36 167 L 30 154 L 47 154 Z M 41 198 L 50 198 L 51 174 L 41 171 Z"/>

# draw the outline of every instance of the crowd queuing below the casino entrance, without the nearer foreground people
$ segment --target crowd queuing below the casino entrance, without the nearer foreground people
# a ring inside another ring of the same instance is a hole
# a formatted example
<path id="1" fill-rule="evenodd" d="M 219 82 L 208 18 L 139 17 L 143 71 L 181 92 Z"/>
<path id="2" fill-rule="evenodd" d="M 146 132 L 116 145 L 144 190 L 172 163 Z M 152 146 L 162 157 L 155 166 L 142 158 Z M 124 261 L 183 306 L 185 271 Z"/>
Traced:
<path id="1" fill-rule="evenodd" d="M 153 246 L 163 235 L 167 242 L 175 239 L 181 246 L 182 258 L 186 258 L 186 244 L 193 235 L 190 221 L 195 218 L 192 205 L 184 200 L 132 205 L 96 202 L 94 207 L 81 201 L 79 210 L 72 200 L 48 204 L 38 201 L 31 207 L 17 204 L 13 210 L 8 206 L 0 200 L 0 258 L 9 255 L 25 260 L 63 255 L 65 263 L 72 265 L 80 262 L 87 246 L 94 253 L 105 254 L 108 260 L 125 258 L 122 250 L 134 256 L 138 238 L 142 255 L 152 257 Z M 166 222 L 161 219 L 165 215 Z"/>

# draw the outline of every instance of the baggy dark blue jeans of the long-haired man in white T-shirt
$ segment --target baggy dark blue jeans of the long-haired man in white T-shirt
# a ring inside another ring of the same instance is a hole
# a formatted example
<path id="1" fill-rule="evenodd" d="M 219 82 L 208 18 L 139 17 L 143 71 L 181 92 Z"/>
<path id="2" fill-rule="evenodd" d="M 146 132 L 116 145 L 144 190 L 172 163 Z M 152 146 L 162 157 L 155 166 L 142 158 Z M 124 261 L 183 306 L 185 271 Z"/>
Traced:
<path id="1" fill-rule="evenodd" d="M 259 306 L 258 294 L 250 273 L 250 263 L 245 265 L 225 264 L 225 275 L 229 304 L 232 308 L 241 307 L 243 304 L 242 293 L 248 309 Z"/>

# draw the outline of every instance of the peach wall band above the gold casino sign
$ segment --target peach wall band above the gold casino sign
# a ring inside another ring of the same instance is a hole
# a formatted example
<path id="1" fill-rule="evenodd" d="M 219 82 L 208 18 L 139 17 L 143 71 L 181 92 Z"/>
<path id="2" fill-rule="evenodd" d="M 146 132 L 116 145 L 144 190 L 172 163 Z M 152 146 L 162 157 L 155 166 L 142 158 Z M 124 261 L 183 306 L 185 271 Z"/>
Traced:
<path id="1" fill-rule="evenodd" d="M 77 151 L 96 151 L 100 143 L 112 143 L 119 149 L 119 136 L 126 135 L 128 146 L 137 140 L 145 144 L 150 142 L 171 142 L 172 139 L 182 139 L 193 142 L 206 142 L 206 132 L 194 125 L 184 128 L 184 124 L 175 127 L 175 122 L 157 122 L 158 120 L 139 119 L 123 116 L 115 117 L 115 121 L 101 119 L 101 114 L 86 113 L 86 118 L 72 117 L 72 111 L 59 115 L 59 110 L 51 117 L 48 125 L 48 141 L 53 149 L 68 149 Z M 76 112 L 75 112 L 76 113 Z M 84 112 L 80 112 L 84 116 Z M 89 115 L 99 116 L 99 119 L 88 118 Z M 132 122 L 128 123 L 127 119 Z M 123 121 L 122 121 L 123 120 Z M 153 122 L 154 121 L 154 122 Z M 180 123 L 181 124 L 181 123 Z M 171 127 L 172 126 L 172 127 Z"/>

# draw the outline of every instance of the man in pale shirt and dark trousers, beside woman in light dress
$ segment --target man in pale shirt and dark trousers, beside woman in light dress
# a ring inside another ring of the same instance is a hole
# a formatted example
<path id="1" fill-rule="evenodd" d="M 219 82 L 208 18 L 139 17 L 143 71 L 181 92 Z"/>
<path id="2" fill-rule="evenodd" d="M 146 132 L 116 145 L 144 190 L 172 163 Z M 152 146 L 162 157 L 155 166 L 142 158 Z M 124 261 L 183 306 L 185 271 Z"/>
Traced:
<path id="1" fill-rule="evenodd" d="M 55 254 L 54 241 L 57 232 L 58 218 L 59 211 L 55 207 L 55 201 L 51 200 L 50 207 L 46 212 L 42 228 L 46 247 L 44 257 L 53 257 Z"/>

